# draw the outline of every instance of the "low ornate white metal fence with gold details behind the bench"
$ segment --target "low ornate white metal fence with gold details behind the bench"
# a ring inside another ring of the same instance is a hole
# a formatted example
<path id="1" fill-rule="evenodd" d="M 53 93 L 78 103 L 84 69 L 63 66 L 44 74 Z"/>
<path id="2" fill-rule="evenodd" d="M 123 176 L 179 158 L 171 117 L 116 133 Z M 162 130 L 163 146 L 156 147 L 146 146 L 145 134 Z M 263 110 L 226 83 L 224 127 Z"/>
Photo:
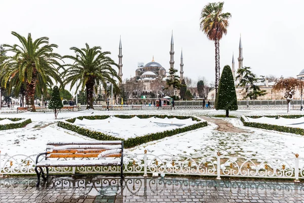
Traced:
<path id="1" fill-rule="evenodd" d="M 36 155 L 6 155 L 0 152 L 0 175 L 35 174 Z M 95 167 L 50 167 L 50 173 L 120 173 L 117 166 Z M 147 174 L 176 174 L 221 177 L 247 178 L 280 178 L 304 179 L 304 158 L 294 157 L 282 159 L 272 157 L 233 157 L 222 156 L 218 152 L 214 156 L 171 156 L 168 154 L 125 154 L 124 173 Z"/>

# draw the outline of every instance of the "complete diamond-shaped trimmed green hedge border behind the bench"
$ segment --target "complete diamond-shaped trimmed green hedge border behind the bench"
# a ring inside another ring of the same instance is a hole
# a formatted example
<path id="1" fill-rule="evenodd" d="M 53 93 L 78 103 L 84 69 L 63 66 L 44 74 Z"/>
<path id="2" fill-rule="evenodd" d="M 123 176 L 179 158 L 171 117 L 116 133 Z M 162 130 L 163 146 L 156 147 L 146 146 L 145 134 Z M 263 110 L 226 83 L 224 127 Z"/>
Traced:
<path id="1" fill-rule="evenodd" d="M 87 128 L 83 128 L 83 127 L 80 127 L 77 125 L 70 124 L 70 123 L 73 123 L 76 118 L 71 118 L 71 119 L 65 120 L 67 122 L 59 121 L 57 125 L 59 127 L 62 127 L 62 128 L 68 129 L 68 130 L 72 130 L 74 132 L 82 134 L 83 136 L 87 136 L 87 137 L 93 138 L 95 140 L 108 140 L 108 141 L 122 140 L 122 141 L 124 141 L 125 148 L 135 147 L 137 145 L 141 145 L 141 144 L 155 141 L 155 140 L 160 140 L 160 139 L 163 139 L 166 137 L 174 136 L 175 134 L 179 134 L 182 132 L 195 130 L 195 129 L 198 129 L 201 127 L 206 127 L 208 125 L 206 121 L 202 121 L 199 118 L 196 118 L 193 116 L 167 116 L 167 115 L 114 115 L 114 116 L 118 117 L 118 118 L 126 118 L 126 119 L 133 118 L 135 116 L 137 116 L 138 118 L 150 118 L 150 117 L 157 117 L 157 118 L 168 117 L 168 118 L 178 118 L 178 119 L 192 118 L 193 121 L 198 121 L 198 123 L 195 123 L 195 124 L 189 125 L 189 126 L 185 126 L 185 127 L 181 127 L 181 128 L 172 129 L 172 130 L 165 130 L 162 132 L 149 133 L 149 134 L 145 134 L 144 136 L 140 136 L 140 137 L 136 137 L 136 138 L 129 138 L 127 140 L 113 137 L 113 136 L 110 136 L 109 134 L 105 134 L 105 133 L 98 132 L 95 130 L 90 130 Z M 81 119 L 81 120 L 83 118 L 95 120 L 95 119 L 106 119 L 108 117 L 110 117 L 110 116 L 80 116 L 77 118 Z"/>

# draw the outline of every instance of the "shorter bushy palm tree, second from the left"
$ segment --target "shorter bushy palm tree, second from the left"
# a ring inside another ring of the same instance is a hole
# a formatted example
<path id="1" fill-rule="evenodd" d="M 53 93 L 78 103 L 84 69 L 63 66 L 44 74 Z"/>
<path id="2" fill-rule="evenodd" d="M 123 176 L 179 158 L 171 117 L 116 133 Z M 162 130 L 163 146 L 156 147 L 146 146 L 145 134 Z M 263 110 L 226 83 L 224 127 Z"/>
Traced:
<path id="1" fill-rule="evenodd" d="M 63 56 L 63 58 L 69 58 L 74 62 L 66 64 L 68 69 L 65 70 L 66 76 L 65 84 L 71 83 L 71 88 L 77 81 L 80 81 L 76 87 L 76 92 L 81 88 L 87 91 L 87 109 L 93 108 L 93 92 L 97 93 L 97 87 L 103 85 L 106 89 L 106 82 L 112 83 L 113 88 L 119 89 L 116 79 L 121 81 L 117 72 L 111 67 L 114 65 L 119 67 L 110 57 L 106 56 L 111 54 L 110 52 L 102 52 L 101 47 L 90 48 L 86 43 L 86 48 L 79 49 L 77 47 L 71 47 L 76 53 L 76 56 Z M 70 90 L 71 90 L 70 88 Z"/>

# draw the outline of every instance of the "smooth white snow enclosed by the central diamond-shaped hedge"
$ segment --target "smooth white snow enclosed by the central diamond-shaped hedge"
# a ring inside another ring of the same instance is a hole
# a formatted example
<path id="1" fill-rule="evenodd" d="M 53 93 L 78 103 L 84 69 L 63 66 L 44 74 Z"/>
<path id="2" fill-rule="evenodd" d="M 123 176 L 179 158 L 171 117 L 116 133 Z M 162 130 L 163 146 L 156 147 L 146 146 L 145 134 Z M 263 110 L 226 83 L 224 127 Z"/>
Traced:
<path id="1" fill-rule="evenodd" d="M 117 117 L 109 117 L 102 120 L 89 120 L 89 119 L 75 119 L 73 124 L 88 129 L 97 130 L 111 136 L 123 139 L 135 138 L 138 136 L 144 136 L 148 133 L 155 133 L 165 130 L 171 130 L 178 127 L 184 127 L 192 125 L 197 121 L 189 119 L 177 119 L 177 118 L 146 118 L 141 119 L 137 116 L 130 119 L 123 119 Z M 170 124 L 182 124 L 182 126 L 176 126 Z"/>

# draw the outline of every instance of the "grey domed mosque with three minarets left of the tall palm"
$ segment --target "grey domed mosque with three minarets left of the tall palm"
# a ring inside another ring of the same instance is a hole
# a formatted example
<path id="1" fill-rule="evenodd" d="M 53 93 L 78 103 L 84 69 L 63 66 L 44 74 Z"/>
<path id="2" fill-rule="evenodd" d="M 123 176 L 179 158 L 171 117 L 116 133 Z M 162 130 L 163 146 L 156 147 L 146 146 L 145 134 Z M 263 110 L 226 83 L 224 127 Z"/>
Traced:
<path id="1" fill-rule="evenodd" d="M 170 50 L 170 67 L 174 67 L 174 43 L 173 43 L 173 32 L 171 35 L 171 50 Z M 122 79 L 122 43 L 120 39 L 119 43 L 119 73 L 118 76 Z M 183 79 L 183 55 L 181 51 L 180 57 L 180 80 Z M 167 85 L 169 73 L 166 71 L 160 63 L 154 60 L 154 56 L 151 62 L 138 63 L 137 69 L 135 71 L 135 76 L 130 78 L 124 84 L 124 89 L 129 95 L 129 98 L 141 98 L 148 99 L 146 102 L 150 103 L 151 98 L 158 98 L 164 96 L 164 90 Z M 154 100 L 154 99 L 153 99 Z"/>

